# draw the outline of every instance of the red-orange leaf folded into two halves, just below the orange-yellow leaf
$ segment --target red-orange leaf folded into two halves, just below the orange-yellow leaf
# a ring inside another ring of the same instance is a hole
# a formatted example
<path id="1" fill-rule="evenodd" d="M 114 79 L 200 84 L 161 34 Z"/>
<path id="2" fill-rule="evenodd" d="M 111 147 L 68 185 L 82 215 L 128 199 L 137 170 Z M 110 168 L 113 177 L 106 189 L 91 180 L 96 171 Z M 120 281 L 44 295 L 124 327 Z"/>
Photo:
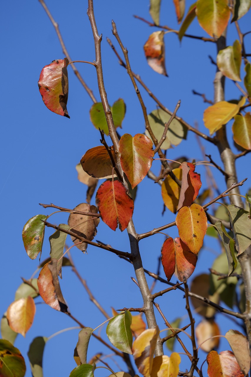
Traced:
<path id="1" fill-rule="evenodd" d="M 197 256 L 191 253 L 180 238 L 169 237 L 161 248 L 161 262 L 168 281 L 176 268 L 178 279 L 183 282 L 193 273 Z"/>

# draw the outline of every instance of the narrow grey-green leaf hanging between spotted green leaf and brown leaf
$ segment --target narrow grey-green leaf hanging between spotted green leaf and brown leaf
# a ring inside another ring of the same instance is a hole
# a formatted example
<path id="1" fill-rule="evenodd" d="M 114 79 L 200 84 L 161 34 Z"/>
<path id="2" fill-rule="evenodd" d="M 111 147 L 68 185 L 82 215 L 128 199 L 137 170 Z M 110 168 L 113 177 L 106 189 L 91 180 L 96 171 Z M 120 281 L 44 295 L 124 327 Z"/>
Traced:
<path id="1" fill-rule="evenodd" d="M 59 227 L 65 230 L 69 230 L 69 225 L 59 224 Z M 49 241 L 51 245 L 50 256 L 51 259 L 57 259 L 57 274 L 62 279 L 62 263 L 63 263 L 63 251 L 66 241 L 67 233 L 61 230 L 56 230 L 51 236 L 49 236 Z"/>

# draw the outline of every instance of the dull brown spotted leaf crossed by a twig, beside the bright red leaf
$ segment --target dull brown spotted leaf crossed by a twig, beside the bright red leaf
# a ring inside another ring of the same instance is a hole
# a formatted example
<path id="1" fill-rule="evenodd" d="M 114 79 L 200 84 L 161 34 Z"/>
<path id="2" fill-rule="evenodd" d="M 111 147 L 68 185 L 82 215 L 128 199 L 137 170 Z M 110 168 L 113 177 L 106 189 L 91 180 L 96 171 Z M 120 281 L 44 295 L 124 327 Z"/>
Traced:
<path id="1" fill-rule="evenodd" d="M 98 213 L 97 208 L 95 205 L 90 205 L 88 203 L 81 203 L 78 204 L 77 207 L 74 208 L 75 211 L 80 212 L 91 212 L 91 213 Z M 68 219 L 68 225 L 75 234 L 77 234 L 80 237 L 86 238 L 89 241 L 92 241 L 93 238 L 97 234 L 97 226 L 99 224 L 100 219 L 98 217 L 92 218 L 92 216 L 87 215 L 80 215 L 78 213 L 70 213 L 69 219 Z M 79 239 L 70 236 L 72 239 L 72 242 L 76 244 L 76 247 L 81 251 L 86 251 L 87 244 L 86 242 L 82 242 L 82 244 L 78 244 Z"/>

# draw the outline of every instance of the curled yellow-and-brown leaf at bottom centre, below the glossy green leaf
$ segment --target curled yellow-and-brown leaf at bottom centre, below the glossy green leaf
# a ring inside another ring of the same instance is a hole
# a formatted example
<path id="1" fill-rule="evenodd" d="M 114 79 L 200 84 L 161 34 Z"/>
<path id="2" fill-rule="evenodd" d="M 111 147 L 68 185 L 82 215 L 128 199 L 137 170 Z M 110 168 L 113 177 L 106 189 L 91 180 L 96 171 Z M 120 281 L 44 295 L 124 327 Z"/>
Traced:
<path id="1" fill-rule="evenodd" d="M 147 329 L 133 342 L 133 357 L 135 364 L 144 377 L 150 377 L 158 336 L 158 327 L 155 329 Z"/>

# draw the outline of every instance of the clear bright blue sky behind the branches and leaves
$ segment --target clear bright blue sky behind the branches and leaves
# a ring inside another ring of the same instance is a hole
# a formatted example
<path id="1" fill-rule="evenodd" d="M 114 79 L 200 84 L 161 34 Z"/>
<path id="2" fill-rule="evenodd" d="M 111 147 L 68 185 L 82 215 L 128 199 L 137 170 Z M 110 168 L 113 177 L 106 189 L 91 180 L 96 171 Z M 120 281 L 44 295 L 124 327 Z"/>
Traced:
<path id="1" fill-rule="evenodd" d="M 188 2 L 188 6 L 192 2 Z M 95 59 L 92 32 L 86 15 L 87 1 L 75 1 L 72 4 L 62 0 L 60 3 L 48 1 L 55 20 L 58 22 L 61 34 L 72 60 Z M 111 32 L 111 20 L 116 22 L 119 36 L 129 51 L 132 70 L 141 75 L 142 80 L 152 90 L 162 103 L 170 110 L 181 100 L 178 115 L 194 125 L 197 121 L 199 129 L 207 133 L 202 117 L 207 104 L 202 98 L 191 92 L 205 93 L 213 100 L 213 80 L 215 66 L 210 63 L 208 55 L 216 59 L 216 46 L 213 43 L 184 38 L 182 44 L 173 33 L 165 35 L 166 68 L 168 78 L 162 77 L 147 65 L 143 45 L 148 36 L 158 30 L 132 17 L 139 15 L 151 20 L 148 13 L 148 2 L 143 0 L 118 2 L 114 0 L 94 1 L 96 23 L 99 33 L 103 34 L 102 54 L 104 83 L 110 104 L 118 98 L 123 98 L 126 106 L 126 116 L 120 133 L 144 133 L 144 119 L 136 94 L 126 70 L 119 66 L 117 58 L 106 42 L 109 37 L 116 45 Z M 41 69 L 52 60 L 64 58 L 60 43 L 49 18 L 38 1 L 4 2 L 1 15 L 2 44 L 2 146 L 1 146 L 1 208 L 2 208 L 2 298 L 0 313 L 4 313 L 14 300 L 15 290 L 21 284 L 20 277 L 29 279 L 36 270 L 38 260 L 31 261 L 26 255 L 21 239 L 21 231 L 26 221 L 39 213 L 49 214 L 52 211 L 43 209 L 38 203 L 50 202 L 62 207 L 73 208 L 86 198 L 86 187 L 77 180 L 75 165 L 80 161 L 87 149 L 99 145 L 99 132 L 93 127 L 89 118 L 92 100 L 87 95 L 71 68 L 69 67 L 69 99 L 67 109 L 70 120 L 50 112 L 43 104 L 38 91 L 37 81 Z M 172 2 L 163 2 L 161 24 L 178 28 Z M 240 20 L 242 32 L 250 28 L 248 15 Z M 227 44 L 237 38 L 234 25 L 228 28 Z M 194 20 L 189 29 L 190 34 L 207 36 Z M 250 46 L 250 35 L 246 37 L 246 48 Z M 118 46 L 116 45 L 118 48 Z M 119 51 L 119 48 L 118 48 Z M 248 51 L 249 52 L 249 51 Z M 87 85 L 99 99 L 95 68 L 89 64 L 78 63 L 77 66 Z M 243 66 L 241 77 L 244 76 Z M 140 87 L 147 112 L 156 109 L 156 104 Z M 240 92 L 230 80 L 226 80 L 226 100 L 240 97 Z M 230 130 L 230 125 L 228 125 Z M 230 133 L 229 133 L 230 134 Z M 232 142 L 230 141 L 231 145 Z M 204 144 L 204 143 L 203 143 Z M 204 144 L 206 153 L 214 156 L 220 163 L 216 147 Z M 176 159 L 186 155 L 189 161 L 202 158 L 194 135 L 188 133 L 187 140 L 180 146 L 168 151 L 168 157 Z M 250 155 L 237 161 L 239 180 L 248 177 L 249 180 L 241 188 L 245 195 L 250 187 L 250 172 L 246 168 Z M 158 174 L 159 162 L 153 162 L 153 171 Z M 201 174 L 205 187 L 205 168 L 198 166 L 196 171 Z M 214 178 L 219 190 L 225 190 L 224 179 L 213 169 Z M 92 204 L 95 204 L 93 196 Z M 139 184 L 133 220 L 138 233 L 151 230 L 174 220 L 174 215 L 168 210 L 162 217 L 162 198 L 159 185 L 153 184 L 148 178 Z M 66 214 L 55 214 L 51 221 L 55 224 L 67 222 Z M 41 260 L 49 256 L 48 237 L 52 233 L 46 229 Z M 177 230 L 170 230 L 170 236 L 178 236 Z M 126 231 L 113 232 L 102 221 L 98 226 L 98 240 L 111 244 L 114 248 L 129 251 Z M 145 268 L 156 271 L 157 259 L 164 241 L 162 234 L 141 241 L 141 255 Z M 71 240 L 67 239 L 71 245 Z M 194 276 L 208 272 L 215 255 L 220 253 L 218 243 L 212 238 L 205 238 L 205 247 L 200 251 L 199 261 Z M 142 299 L 136 285 L 130 279 L 134 276 L 133 268 L 118 257 L 105 250 L 96 250 L 89 246 L 88 254 L 82 254 L 77 248 L 72 250 L 72 257 L 81 274 L 86 279 L 90 290 L 101 305 L 110 312 L 110 307 L 139 307 Z M 161 275 L 164 277 L 164 273 Z M 148 279 L 149 284 L 152 279 Z M 176 282 L 175 278 L 171 281 Z M 165 288 L 165 287 L 164 287 Z M 104 321 L 98 309 L 89 301 L 86 291 L 69 267 L 63 269 L 61 289 L 69 305 L 70 312 L 84 325 L 95 328 Z M 156 291 L 163 286 L 156 284 Z M 75 323 L 63 313 L 47 307 L 38 298 L 37 313 L 34 324 L 24 339 L 17 337 L 15 346 L 25 357 L 30 375 L 29 362 L 26 356 L 29 344 L 35 336 L 50 336 L 63 328 L 75 326 Z M 181 292 L 171 292 L 160 297 L 158 303 L 169 322 L 176 317 L 183 317 L 185 300 Z M 164 329 L 164 323 L 156 314 L 159 327 Z M 196 320 L 199 317 L 196 315 Z M 217 315 L 217 322 L 222 328 L 222 334 L 230 328 L 236 328 L 227 317 Z M 184 319 L 183 325 L 188 323 Z M 105 335 L 105 328 L 101 334 Z M 78 330 L 68 331 L 51 339 L 44 351 L 44 376 L 69 375 L 75 368 L 73 350 L 78 340 Z M 108 341 L 108 340 L 107 340 Z M 188 340 L 185 344 L 191 349 Z M 220 351 L 229 349 L 226 340 L 221 341 Z M 175 350 L 182 352 L 178 346 Z M 95 339 L 91 339 L 87 359 L 96 352 L 109 354 Z M 167 351 L 166 353 L 168 353 Z M 200 353 L 200 362 L 206 354 Z M 115 364 L 105 359 L 117 371 Z M 182 356 L 181 370 L 190 368 L 186 356 Z M 205 366 L 204 366 L 205 368 Z M 95 376 L 107 375 L 105 369 L 98 369 Z"/>

